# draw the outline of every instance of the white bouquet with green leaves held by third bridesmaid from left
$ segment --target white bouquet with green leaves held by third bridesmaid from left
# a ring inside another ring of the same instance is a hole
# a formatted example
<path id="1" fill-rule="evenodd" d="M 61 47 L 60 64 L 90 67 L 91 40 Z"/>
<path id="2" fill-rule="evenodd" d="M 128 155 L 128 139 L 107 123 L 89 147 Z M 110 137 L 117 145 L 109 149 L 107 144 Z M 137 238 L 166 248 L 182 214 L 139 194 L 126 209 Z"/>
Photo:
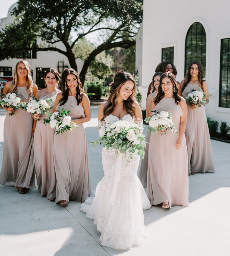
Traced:
<path id="1" fill-rule="evenodd" d="M 69 112 L 70 110 L 66 111 L 64 108 L 61 109 L 61 107 L 59 107 L 59 110 L 54 112 L 52 115 L 51 113 L 46 112 L 49 118 L 43 119 L 43 123 L 45 125 L 48 123 L 52 129 L 56 128 L 56 134 L 59 134 L 60 132 L 68 133 L 72 129 L 77 129 L 79 127 L 75 122 L 71 122 Z"/>

